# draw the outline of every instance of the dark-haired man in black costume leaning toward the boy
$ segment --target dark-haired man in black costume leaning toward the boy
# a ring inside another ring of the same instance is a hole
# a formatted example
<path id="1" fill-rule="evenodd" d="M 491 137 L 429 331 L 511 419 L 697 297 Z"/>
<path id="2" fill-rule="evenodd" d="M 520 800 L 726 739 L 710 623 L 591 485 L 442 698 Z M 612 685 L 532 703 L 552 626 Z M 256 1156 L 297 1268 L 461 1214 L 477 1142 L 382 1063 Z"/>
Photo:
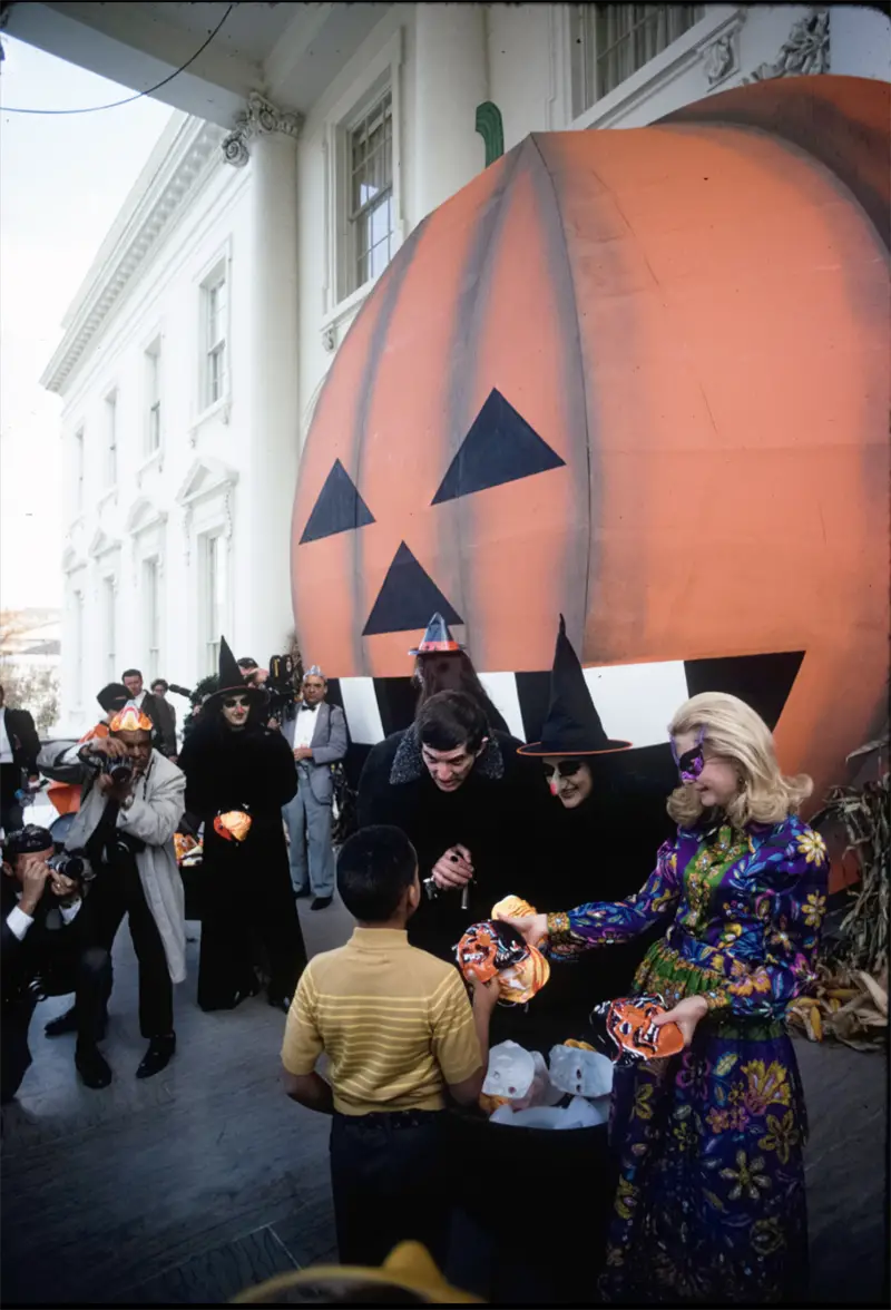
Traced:
<path id="1" fill-rule="evenodd" d="M 465 929 L 503 896 L 550 900 L 537 858 L 548 789 L 519 747 L 490 727 L 478 701 L 439 692 L 362 770 L 359 827 L 393 824 L 411 841 L 425 897 L 409 941 L 443 960 L 455 960 Z"/>

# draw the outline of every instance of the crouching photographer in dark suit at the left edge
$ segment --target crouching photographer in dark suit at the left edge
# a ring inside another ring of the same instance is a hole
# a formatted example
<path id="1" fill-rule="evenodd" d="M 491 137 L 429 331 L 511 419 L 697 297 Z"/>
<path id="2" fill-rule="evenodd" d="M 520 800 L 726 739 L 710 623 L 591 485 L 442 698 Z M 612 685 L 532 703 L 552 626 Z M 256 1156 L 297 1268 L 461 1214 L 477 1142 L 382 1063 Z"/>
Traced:
<path id="1" fill-rule="evenodd" d="M 0 1104 L 13 1099 L 31 1064 L 34 1006 L 76 993 L 75 1064 L 88 1087 L 106 1086 L 97 1048 L 109 952 L 90 947 L 83 917 L 92 869 L 83 854 L 56 855 L 46 828 L 29 824 L 3 848 L 0 880 Z M 107 1068 L 107 1066 L 106 1066 Z"/>

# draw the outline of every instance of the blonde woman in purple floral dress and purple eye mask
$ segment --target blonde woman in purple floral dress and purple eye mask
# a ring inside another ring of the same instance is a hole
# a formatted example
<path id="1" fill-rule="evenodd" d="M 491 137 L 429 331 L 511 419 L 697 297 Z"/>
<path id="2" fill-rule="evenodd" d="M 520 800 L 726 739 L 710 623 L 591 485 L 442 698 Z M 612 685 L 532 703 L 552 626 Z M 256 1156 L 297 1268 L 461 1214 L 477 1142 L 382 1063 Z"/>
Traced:
<path id="1" fill-rule="evenodd" d="M 736 697 L 696 696 L 668 731 L 677 840 L 646 886 L 511 922 L 552 959 L 667 926 L 634 988 L 666 998 L 685 1049 L 616 1069 L 604 1300 L 799 1300 L 806 1117 L 784 1017 L 814 980 L 825 910 L 825 848 L 795 817 L 811 781 L 782 776 L 767 724 Z"/>

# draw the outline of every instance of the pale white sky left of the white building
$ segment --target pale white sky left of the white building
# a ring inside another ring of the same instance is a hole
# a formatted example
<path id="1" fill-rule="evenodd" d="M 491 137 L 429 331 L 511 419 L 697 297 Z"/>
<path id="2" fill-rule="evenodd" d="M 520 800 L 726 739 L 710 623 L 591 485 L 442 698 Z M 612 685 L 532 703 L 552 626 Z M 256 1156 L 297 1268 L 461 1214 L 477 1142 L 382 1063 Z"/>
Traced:
<path id="1" fill-rule="evenodd" d="M 4 37 L 0 64 L 0 609 L 62 604 L 62 400 L 41 373 L 172 110 Z"/>

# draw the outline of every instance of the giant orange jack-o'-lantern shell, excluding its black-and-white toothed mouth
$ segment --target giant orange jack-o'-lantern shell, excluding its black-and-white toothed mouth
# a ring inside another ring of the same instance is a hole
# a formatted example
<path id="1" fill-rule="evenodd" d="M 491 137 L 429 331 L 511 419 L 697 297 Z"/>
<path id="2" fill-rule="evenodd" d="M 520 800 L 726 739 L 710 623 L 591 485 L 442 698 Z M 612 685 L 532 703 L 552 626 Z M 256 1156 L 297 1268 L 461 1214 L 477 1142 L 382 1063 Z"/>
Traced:
<path id="1" fill-rule="evenodd" d="M 405 675 L 803 651 L 785 768 L 884 703 L 888 88 L 759 84 L 531 136 L 431 214 L 321 393 L 294 515 L 301 648 Z M 463 626 L 461 626 L 463 625 Z"/>

